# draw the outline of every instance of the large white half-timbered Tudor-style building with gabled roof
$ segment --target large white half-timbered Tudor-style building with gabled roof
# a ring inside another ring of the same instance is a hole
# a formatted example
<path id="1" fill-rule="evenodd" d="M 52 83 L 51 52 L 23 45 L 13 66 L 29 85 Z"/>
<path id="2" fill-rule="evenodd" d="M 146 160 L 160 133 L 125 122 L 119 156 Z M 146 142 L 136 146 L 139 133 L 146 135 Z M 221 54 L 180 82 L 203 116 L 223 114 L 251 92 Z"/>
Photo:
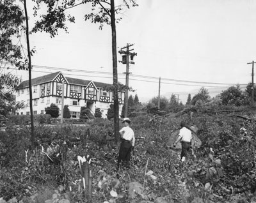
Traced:
<path id="1" fill-rule="evenodd" d="M 62 93 L 64 93 L 63 106 L 68 105 L 71 118 L 80 117 L 81 107 L 87 107 L 93 115 L 95 109 L 100 108 L 102 117 L 106 117 L 109 105 L 113 103 L 113 92 L 107 90 L 111 84 L 65 77 L 61 71 L 31 79 L 31 86 L 33 114 L 45 114 L 45 107 L 49 107 L 51 103 L 58 105 L 61 114 Z M 125 92 L 118 91 L 120 114 L 124 98 Z M 28 80 L 22 82 L 16 89 L 16 101 L 24 101 L 26 105 L 25 109 L 20 109 L 17 114 L 29 115 Z"/>

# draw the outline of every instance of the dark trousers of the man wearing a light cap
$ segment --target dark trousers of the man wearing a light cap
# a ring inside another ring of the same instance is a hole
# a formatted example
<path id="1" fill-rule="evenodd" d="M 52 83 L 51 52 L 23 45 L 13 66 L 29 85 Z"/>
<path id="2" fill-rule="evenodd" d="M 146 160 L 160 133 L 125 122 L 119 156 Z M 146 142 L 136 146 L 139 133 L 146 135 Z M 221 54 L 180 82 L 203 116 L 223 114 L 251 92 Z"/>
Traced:
<path id="1" fill-rule="evenodd" d="M 117 160 L 117 167 L 120 167 L 120 163 L 123 160 L 125 162 L 125 165 L 129 167 L 129 161 L 131 159 L 131 149 L 132 144 L 129 140 L 122 140 L 120 149 L 119 149 L 119 155 Z"/>

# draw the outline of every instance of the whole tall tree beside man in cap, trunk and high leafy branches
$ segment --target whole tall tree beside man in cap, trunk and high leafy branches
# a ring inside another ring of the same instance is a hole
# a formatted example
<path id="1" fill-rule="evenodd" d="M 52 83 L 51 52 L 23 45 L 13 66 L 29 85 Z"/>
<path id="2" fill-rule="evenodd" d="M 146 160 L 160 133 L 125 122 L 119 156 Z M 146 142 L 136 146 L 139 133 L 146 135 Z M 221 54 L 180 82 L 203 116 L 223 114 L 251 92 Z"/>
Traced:
<path id="1" fill-rule="evenodd" d="M 135 0 L 123 0 L 124 6 L 129 8 L 129 3 L 132 6 L 138 6 Z M 67 10 L 74 8 L 75 6 L 81 4 L 92 4 L 92 12 L 84 15 L 84 20 L 91 20 L 92 23 L 99 23 L 100 29 L 102 29 L 103 24 L 111 26 L 112 34 L 112 61 L 113 61 L 113 100 L 114 100 L 114 128 L 115 128 L 115 140 L 119 140 L 119 103 L 118 103 L 118 73 L 117 73 L 117 56 L 116 56 L 116 22 L 122 18 L 116 18 L 115 15 L 122 13 L 122 5 L 115 6 L 115 0 L 104 0 L 104 1 L 74 1 L 74 0 L 60 0 L 60 1 L 49 1 L 49 0 L 35 0 L 37 6 L 35 6 L 35 15 L 37 10 L 41 7 L 41 3 L 47 5 L 47 13 L 41 15 L 40 21 L 36 22 L 36 26 L 33 31 L 46 31 L 50 33 L 51 36 L 58 34 L 58 29 L 65 29 L 67 31 L 67 26 L 65 24 L 66 20 L 69 22 L 75 22 L 75 17 L 70 16 Z M 99 6 L 97 8 L 97 6 Z M 97 8 L 97 9 L 96 9 Z"/>

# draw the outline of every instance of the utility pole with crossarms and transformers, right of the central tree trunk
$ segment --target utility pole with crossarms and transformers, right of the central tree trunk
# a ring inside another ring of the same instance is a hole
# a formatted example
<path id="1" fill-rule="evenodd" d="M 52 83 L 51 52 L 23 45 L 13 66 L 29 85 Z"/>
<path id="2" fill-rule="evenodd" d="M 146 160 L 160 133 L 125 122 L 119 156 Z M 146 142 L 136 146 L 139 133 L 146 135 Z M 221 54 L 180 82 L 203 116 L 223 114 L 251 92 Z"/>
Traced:
<path id="1" fill-rule="evenodd" d="M 127 43 L 126 47 L 121 48 L 121 50 L 119 51 L 120 54 L 122 55 L 122 64 L 126 64 L 126 72 L 125 72 L 125 100 L 124 100 L 124 105 L 125 105 L 125 109 L 124 109 L 124 117 L 128 117 L 128 87 L 129 87 L 129 64 L 134 64 L 133 62 L 133 57 L 137 56 L 137 53 L 131 52 L 133 49 L 130 49 L 130 47 L 133 46 L 132 44 L 130 45 L 129 43 Z M 126 49 L 126 50 L 125 50 Z M 131 61 L 130 60 L 131 57 Z"/>

